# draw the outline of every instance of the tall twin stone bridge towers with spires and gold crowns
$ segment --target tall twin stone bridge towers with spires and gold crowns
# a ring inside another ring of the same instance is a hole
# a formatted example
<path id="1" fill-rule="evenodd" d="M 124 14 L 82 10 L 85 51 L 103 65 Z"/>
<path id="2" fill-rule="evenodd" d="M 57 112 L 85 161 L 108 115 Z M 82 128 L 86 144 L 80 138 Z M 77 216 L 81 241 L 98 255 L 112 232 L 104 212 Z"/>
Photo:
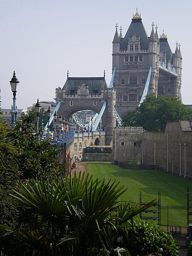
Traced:
<path id="1" fill-rule="evenodd" d="M 166 35 L 157 34 L 157 25 L 152 23 L 148 37 L 141 15 L 136 12 L 131 24 L 122 36 L 118 26 L 113 38 L 113 64 L 116 75 L 113 87 L 116 90 L 116 111 L 122 117 L 126 111 L 135 110 L 139 105 L 149 68 L 152 67 L 148 93 L 180 98 L 182 57 L 180 45 L 172 53 Z M 154 31 L 155 29 L 155 31 Z"/>

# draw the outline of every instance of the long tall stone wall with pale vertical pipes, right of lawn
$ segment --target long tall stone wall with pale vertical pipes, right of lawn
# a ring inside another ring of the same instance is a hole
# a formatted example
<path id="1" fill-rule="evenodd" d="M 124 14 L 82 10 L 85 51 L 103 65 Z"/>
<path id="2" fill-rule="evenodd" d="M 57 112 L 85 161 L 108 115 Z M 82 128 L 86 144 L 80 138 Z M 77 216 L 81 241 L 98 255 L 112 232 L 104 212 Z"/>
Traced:
<path id="1" fill-rule="evenodd" d="M 144 132 L 142 163 L 192 179 L 192 129 L 188 121 L 168 122 L 164 132 Z"/>

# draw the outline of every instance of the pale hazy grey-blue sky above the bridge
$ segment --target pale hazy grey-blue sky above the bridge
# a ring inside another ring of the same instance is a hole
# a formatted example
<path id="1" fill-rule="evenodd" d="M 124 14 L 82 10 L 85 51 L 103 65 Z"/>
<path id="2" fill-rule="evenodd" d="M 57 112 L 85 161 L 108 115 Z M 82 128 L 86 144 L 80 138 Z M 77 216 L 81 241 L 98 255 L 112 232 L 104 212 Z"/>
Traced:
<path id="1" fill-rule="evenodd" d="M 191 0 L 0 0 L 1 107 L 12 105 L 13 70 L 20 81 L 17 108 L 38 98 L 54 101 L 67 70 L 71 77 L 103 76 L 105 70 L 109 84 L 115 25 L 124 37 L 137 7 L 148 36 L 154 22 L 172 52 L 180 43 L 182 99 L 192 104 Z"/>

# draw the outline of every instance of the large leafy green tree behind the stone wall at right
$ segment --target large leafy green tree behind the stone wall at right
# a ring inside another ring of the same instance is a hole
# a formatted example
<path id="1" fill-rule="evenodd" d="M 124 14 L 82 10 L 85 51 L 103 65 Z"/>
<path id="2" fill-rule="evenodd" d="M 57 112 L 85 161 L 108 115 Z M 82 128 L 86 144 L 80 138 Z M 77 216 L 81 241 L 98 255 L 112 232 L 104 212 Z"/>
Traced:
<path id="1" fill-rule="evenodd" d="M 191 120 L 192 109 L 174 97 L 147 95 L 135 112 L 122 118 L 124 126 L 142 126 L 146 131 L 163 131 L 167 121 Z"/>

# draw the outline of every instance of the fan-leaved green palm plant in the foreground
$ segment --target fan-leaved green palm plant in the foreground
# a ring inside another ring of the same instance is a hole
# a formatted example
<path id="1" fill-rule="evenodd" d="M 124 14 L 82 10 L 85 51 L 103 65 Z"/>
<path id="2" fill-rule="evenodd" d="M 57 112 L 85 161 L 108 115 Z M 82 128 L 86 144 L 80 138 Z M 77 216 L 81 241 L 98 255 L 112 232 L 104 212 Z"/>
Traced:
<path id="1" fill-rule="evenodd" d="M 130 255 L 121 248 L 119 234 L 127 236 L 126 221 L 154 201 L 143 207 L 119 204 L 125 191 L 119 183 L 93 180 L 84 173 L 52 182 L 29 180 L 11 195 L 25 212 L 16 230 L 0 225 L 2 248 L 15 256 Z"/>

